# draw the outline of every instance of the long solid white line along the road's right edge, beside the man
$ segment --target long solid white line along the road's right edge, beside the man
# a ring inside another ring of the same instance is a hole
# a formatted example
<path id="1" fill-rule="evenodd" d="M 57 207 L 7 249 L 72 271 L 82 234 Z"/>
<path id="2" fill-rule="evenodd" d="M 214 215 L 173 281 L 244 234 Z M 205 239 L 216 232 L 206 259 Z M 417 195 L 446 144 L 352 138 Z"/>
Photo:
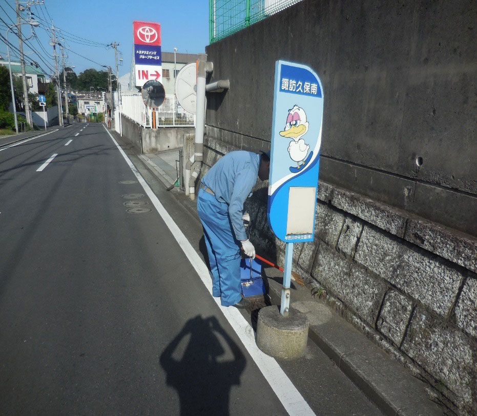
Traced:
<path id="1" fill-rule="evenodd" d="M 103 127 L 105 127 L 104 124 Z M 168 226 L 172 235 L 179 243 L 180 248 L 182 248 L 182 251 L 189 259 L 192 266 L 195 268 L 195 271 L 202 280 L 202 283 L 205 285 L 207 290 L 209 290 L 209 293 L 212 296 L 212 281 L 209 275 L 209 269 L 199 257 L 189 240 L 184 236 L 182 231 L 180 231 L 180 228 L 174 222 L 169 213 L 165 210 L 159 199 L 152 192 L 151 188 L 143 179 L 134 164 L 131 162 L 131 160 L 129 160 L 126 153 L 124 153 L 124 151 L 119 147 L 119 144 L 111 135 L 111 133 L 106 129 L 106 127 L 105 130 L 113 140 L 122 157 L 126 160 L 126 163 L 128 163 L 138 182 L 142 185 L 142 188 L 151 199 L 151 202 L 155 206 L 157 212 L 162 217 L 165 224 Z M 254 330 L 248 324 L 245 318 L 240 314 L 239 310 L 234 307 L 224 307 L 220 305 L 220 298 L 213 299 L 219 306 L 227 321 L 229 321 L 229 323 L 231 324 L 232 328 L 234 328 L 235 332 L 239 336 L 248 353 L 250 353 L 258 368 L 260 368 L 260 371 L 262 372 L 263 376 L 268 381 L 268 384 L 275 391 L 275 394 L 277 395 L 278 399 L 280 400 L 288 414 L 292 416 L 316 416 L 313 410 L 309 407 L 308 403 L 306 403 L 305 399 L 303 399 L 303 396 L 293 385 L 290 379 L 286 376 L 282 368 L 278 365 L 277 361 L 274 358 L 267 356 L 257 347 L 257 344 L 255 342 Z"/>

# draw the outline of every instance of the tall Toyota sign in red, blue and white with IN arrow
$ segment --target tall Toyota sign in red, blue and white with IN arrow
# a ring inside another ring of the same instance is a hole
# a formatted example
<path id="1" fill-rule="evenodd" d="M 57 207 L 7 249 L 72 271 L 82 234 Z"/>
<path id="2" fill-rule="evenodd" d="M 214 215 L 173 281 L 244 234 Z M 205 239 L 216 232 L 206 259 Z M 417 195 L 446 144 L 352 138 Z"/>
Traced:
<path id="1" fill-rule="evenodd" d="M 133 22 L 134 50 L 143 50 L 142 61 L 134 66 L 136 86 L 142 87 L 153 79 L 162 81 L 162 66 L 160 56 L 161 25 L 152 22 Z M 140 47 L 138 47 L 140 46 Z M 149 58 L 151 64 L 149 64 Z M 159 65 L 157 65 L 159 64 Z"/>

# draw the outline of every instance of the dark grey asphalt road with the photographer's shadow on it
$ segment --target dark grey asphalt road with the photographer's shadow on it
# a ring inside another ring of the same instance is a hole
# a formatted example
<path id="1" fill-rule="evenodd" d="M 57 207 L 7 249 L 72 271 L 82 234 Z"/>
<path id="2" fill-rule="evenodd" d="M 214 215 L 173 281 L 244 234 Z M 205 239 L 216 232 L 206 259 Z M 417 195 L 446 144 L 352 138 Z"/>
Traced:
<path id="1" fill-rule="evenodd" d="M 303 390 L 316 354 L 284 365 Z M 347 397 L 310 397 L 317 414 L 379 414 L 328 367 Z M 0 397 L 9 415 L 286 414 L 102 124 L 0 148 Z"/>

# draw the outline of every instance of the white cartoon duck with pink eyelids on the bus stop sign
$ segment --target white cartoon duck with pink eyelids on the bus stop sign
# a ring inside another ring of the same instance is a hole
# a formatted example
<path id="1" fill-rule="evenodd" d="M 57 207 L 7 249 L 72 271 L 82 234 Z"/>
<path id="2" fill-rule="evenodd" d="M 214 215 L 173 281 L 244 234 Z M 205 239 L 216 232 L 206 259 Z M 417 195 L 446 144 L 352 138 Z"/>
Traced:
<path id="1" fill-rule="evenodd" d="M 308 154 L 309 144 L 305 143 L 301 137 L 308 131 L 308 122 L 304 110 L 297 105 L 288 112 L 285 130 L 280 132 L 280 136 L 291 137 L 293 140 L 288 145 L 290 158 L 297 162 L 298 169 L 305 163 Z"/>

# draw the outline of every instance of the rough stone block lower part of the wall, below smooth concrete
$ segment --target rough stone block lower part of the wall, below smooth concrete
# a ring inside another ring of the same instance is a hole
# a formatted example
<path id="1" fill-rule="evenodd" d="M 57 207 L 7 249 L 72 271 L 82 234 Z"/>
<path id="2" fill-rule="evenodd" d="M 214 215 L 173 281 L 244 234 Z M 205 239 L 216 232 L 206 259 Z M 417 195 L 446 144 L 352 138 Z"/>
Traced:
<path id="1" fill-rule="evenodd" d="M 206 127 L 202 175 L 233 150 L 269 142 Z M 267 224 L 267 182 L 247 200 L 257 252 L 283 266 Z M 293 269 L 432 388 L 449 412 L 477 414 L 477 239 L 320 181 L 315 241 L 296 243 Z"/>

